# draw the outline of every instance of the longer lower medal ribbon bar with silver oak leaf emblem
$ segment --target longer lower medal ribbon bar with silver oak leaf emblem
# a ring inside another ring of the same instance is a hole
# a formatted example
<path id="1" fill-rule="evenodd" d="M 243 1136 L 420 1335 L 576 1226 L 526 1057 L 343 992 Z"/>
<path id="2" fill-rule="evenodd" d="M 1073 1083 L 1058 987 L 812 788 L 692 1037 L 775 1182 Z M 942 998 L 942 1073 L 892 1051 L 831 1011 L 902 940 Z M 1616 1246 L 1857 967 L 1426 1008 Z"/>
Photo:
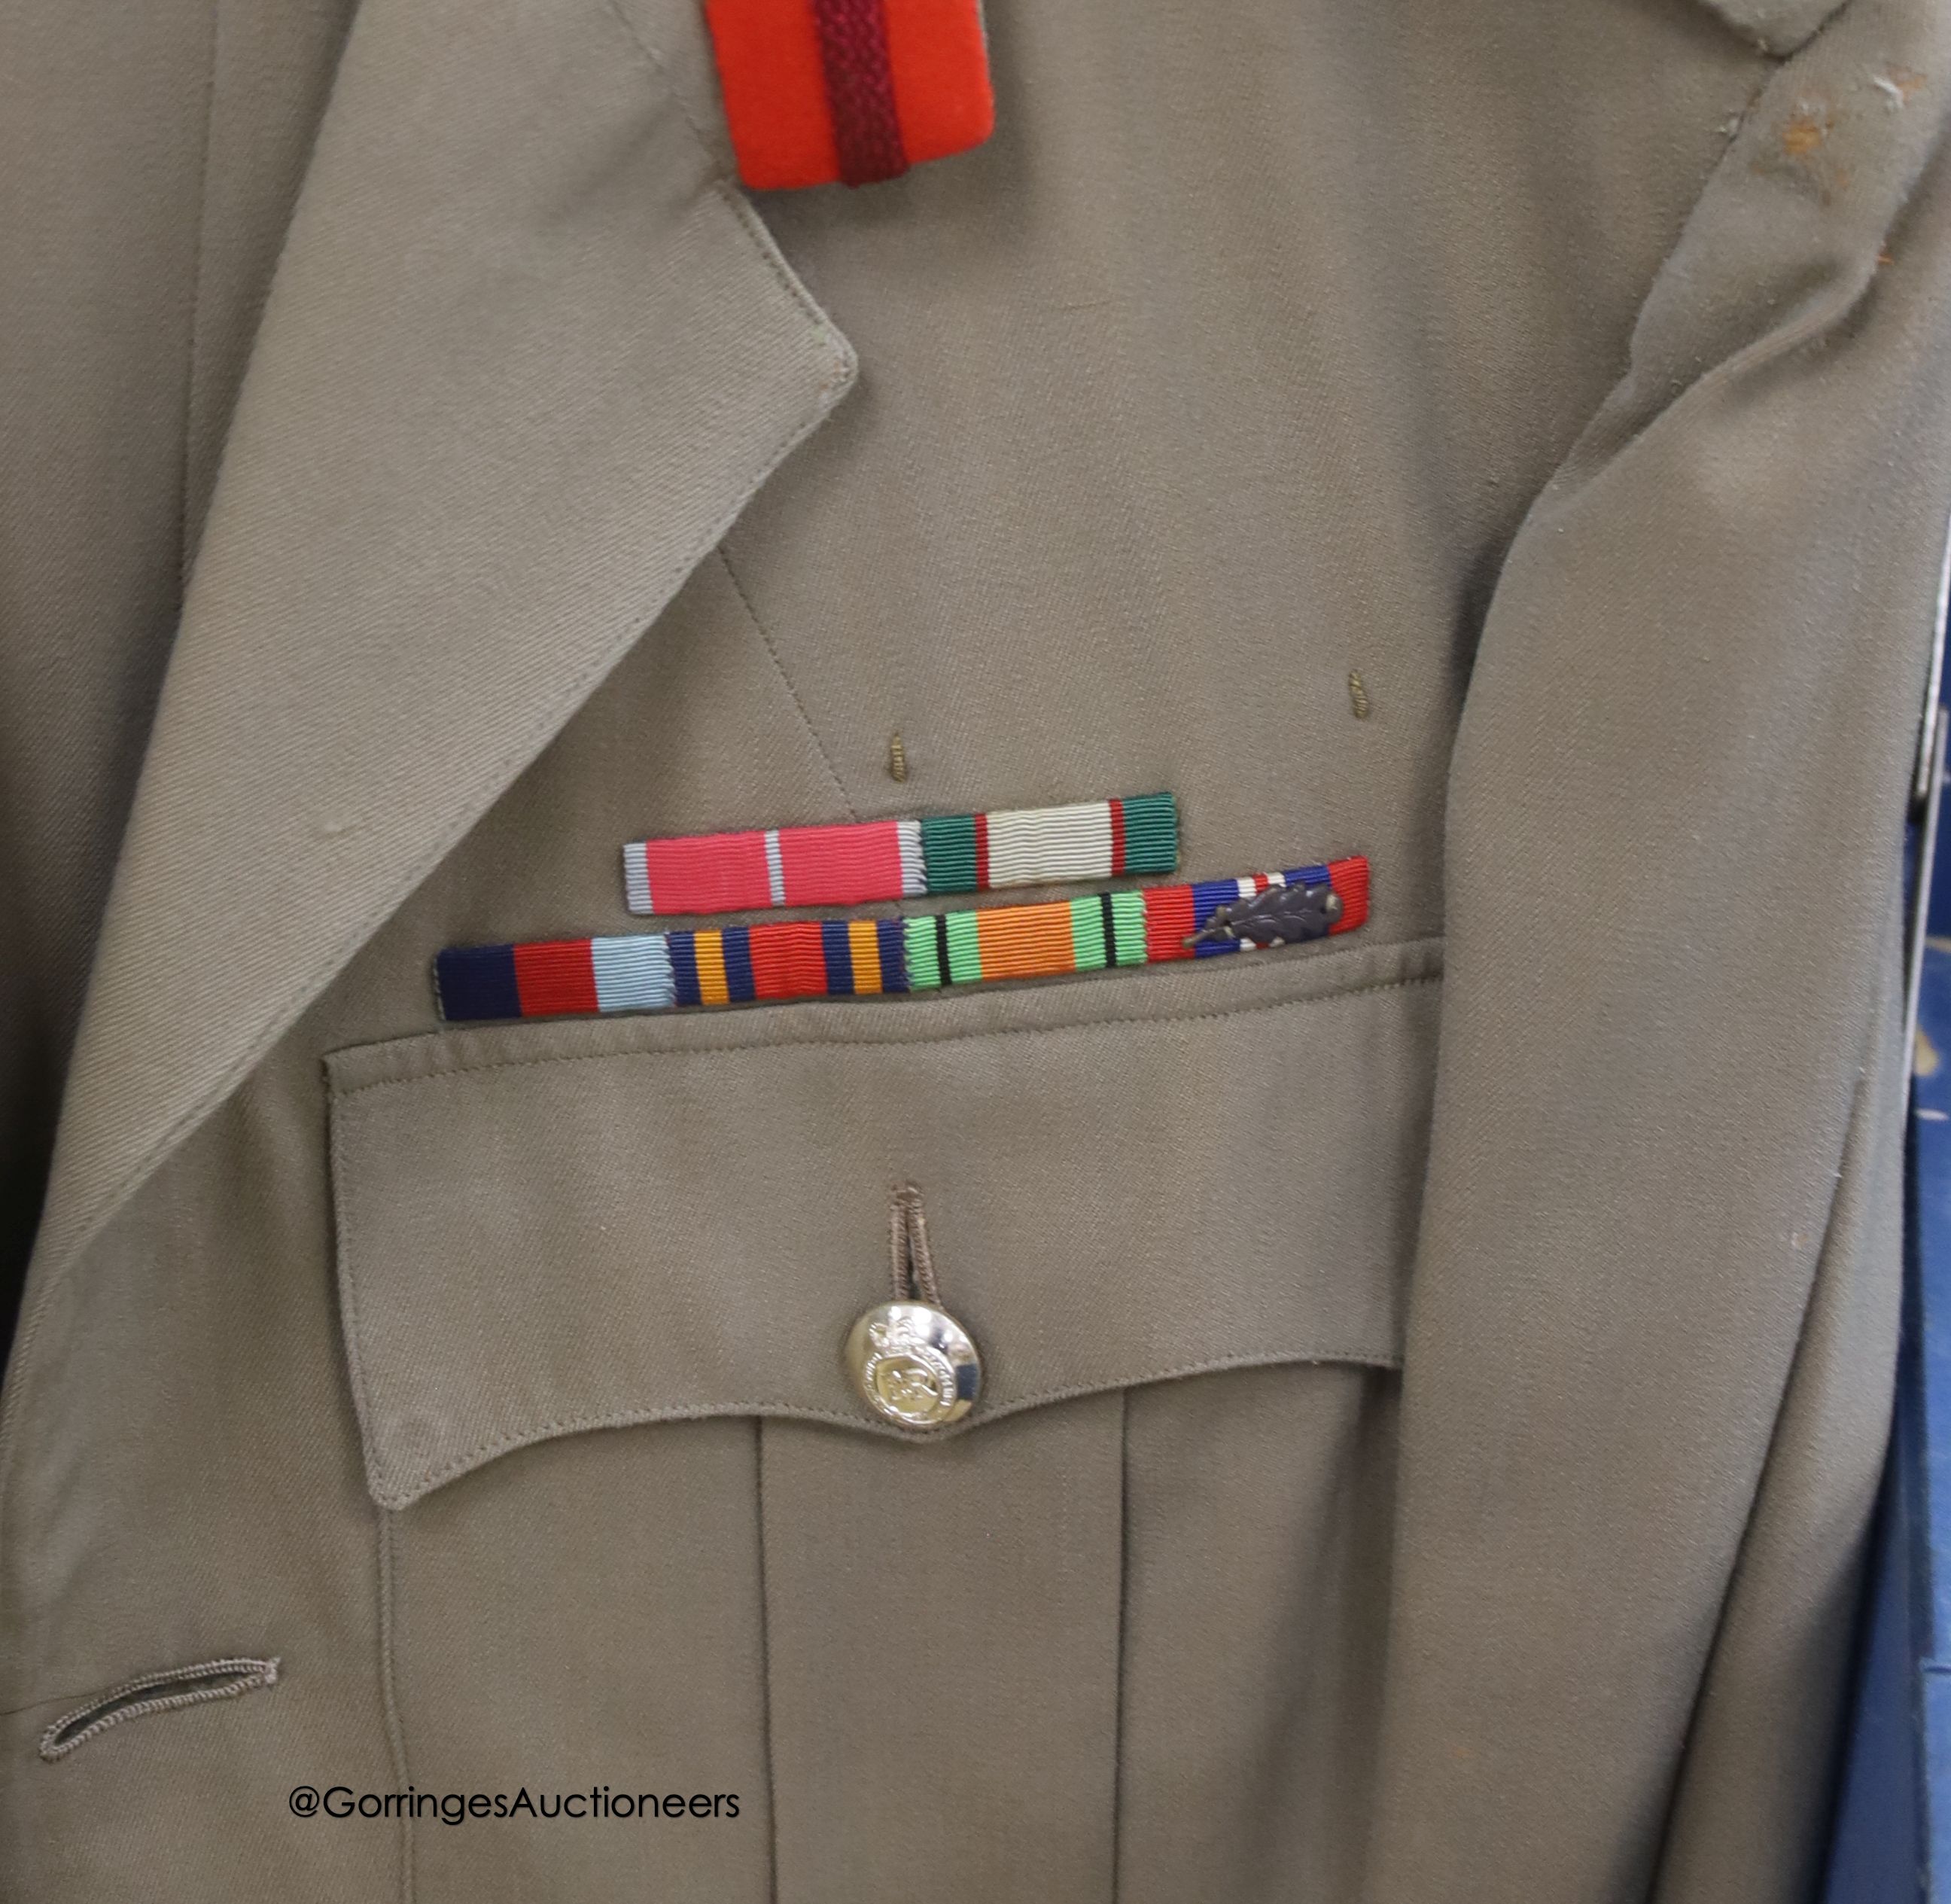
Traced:
<path id="1" fill-rule="evenodd" d="M 1307 903 L 1256 905 L 1270 888 L 1301 888 L 1297 897 Z M 1315 897 L 1319 903 L 1311 903 Z M 769 921 L 724 931 L 453 946 L 435 960 L 433 989 L 449 1022 L 931 991 L 1251 952 L 1262 942 L 1350 932 L 1364 919 L 1368 860 L 1346 858 L 1239 880 L 1137 886 L 911 919 Z"/>

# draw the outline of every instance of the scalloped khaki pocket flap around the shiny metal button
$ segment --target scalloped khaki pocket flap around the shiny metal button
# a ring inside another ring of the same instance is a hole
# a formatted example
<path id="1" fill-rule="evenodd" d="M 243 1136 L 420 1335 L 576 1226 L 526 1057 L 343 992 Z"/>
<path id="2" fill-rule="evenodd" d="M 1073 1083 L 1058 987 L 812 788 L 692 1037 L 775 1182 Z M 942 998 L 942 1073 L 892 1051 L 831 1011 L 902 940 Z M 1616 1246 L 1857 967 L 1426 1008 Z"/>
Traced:
<path id="1" fill-rule="evenodd" d="M 907 1180 L 983 1356 L 948 1434 L 1221 1368 L 1395 1364 L 1436 948 L 1219 964 L 336 1053 L 375 1500 L 634 1422 L 899 1434 L 843 1342 L 890 1293 Z"/>

